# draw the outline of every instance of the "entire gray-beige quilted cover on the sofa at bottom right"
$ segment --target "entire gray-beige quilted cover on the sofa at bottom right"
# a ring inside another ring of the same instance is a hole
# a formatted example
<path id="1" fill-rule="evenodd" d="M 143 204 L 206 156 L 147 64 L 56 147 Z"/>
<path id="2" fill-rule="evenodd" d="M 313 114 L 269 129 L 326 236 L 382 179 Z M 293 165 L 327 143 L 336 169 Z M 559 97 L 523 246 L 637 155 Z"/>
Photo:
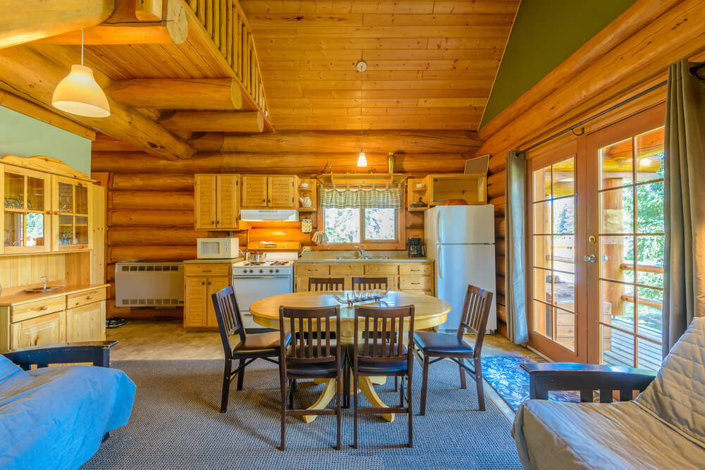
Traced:
<path id="1" fill-rule="evenodd" d="M 637 400 L 527 400 L 513 435 L 525 469 L 705 468 L 705 317 Z"/>

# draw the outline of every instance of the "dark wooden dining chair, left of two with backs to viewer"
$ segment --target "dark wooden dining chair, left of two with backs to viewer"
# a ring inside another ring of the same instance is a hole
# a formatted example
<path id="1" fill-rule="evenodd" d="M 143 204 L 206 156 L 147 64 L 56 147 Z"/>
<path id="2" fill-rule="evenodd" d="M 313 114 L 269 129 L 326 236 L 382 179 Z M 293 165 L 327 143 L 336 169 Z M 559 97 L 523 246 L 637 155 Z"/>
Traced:
<path id="1" fill-rule="evenodd" d="M 279 334 L 281 335 L 281 361 L 279 374 L 281 386 L 281 446 L 285 449 L 286 416 L 309 414 L 335 414 L 337 418 L 337 445 L 341 448 L 341 388 L 343 385 L 343 366 L 345 357 L 341 352 L 341 343 L 331 344 L 331 319 L 335 319 L 336 337 L 341 333 L 341 307 L 279 307 Z M 292 331 L 298 329 L 291 345 L 285 346 L 284 340 Z M 295 409 L 294 383 L 301 378 L 336 379 L 336 409 Z M 288 385 L 288 386 L 287 386 Z M 289 409 L 286 402 L 289 402 Z"/>

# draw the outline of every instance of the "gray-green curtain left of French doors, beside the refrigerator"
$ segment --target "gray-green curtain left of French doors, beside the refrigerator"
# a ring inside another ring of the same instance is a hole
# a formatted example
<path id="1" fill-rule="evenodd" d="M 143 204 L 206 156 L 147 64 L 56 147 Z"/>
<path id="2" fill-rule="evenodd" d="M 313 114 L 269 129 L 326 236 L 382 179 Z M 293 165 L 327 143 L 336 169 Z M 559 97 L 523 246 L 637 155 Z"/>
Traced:
<path id="1" fill-rule="evenodd" d="M 526 311 L 526 168 L 524 152 L 507 154 L 505 194 L 505 302 L 507 333 L 516 344 L 529 340 Z"/>

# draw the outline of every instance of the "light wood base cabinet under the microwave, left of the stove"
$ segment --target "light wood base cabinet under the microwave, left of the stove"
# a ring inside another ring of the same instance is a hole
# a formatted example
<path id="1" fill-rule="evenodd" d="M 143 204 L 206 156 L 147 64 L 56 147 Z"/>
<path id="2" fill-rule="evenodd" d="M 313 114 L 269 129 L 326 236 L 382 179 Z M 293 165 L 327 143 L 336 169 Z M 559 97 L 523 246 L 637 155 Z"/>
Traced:
<path id="1" fill-rule="evenodd" d="M 184 328 L 218 328 L 211 295 L 231 285 L 231 280 L 230 264 L 184 265 Z"/>

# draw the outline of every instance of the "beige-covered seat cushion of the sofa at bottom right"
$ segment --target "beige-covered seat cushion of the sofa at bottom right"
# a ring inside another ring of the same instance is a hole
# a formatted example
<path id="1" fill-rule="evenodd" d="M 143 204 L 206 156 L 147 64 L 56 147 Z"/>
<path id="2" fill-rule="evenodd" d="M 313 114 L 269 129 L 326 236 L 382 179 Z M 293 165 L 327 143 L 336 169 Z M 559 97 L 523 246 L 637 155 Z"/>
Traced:
<path id="1" fill-rule="evenodd" d="M 705 449 L 635 402 L 524 402 L 514 439 L 525 469 L 695 469 Z"/>

